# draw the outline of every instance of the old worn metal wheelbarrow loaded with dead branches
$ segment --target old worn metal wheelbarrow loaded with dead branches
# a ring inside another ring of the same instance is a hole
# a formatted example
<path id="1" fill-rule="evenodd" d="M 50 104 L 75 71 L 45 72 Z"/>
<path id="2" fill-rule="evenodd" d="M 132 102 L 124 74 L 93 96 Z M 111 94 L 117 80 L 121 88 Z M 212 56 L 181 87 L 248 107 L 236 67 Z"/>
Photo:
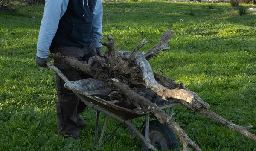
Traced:
<path id="1" fill-rule="evenodd" d="M 115 105 L 100 98 L 100 96 L 106 96 L 113 91 L 113 89 L 105 82 L 99 81 L 96 78 L 69 81 L 67 77 L 64 76 L 64 74 L 61 73 L 61 71 L 50 62 L 47 63 L 47 66 L 54 70 L 61 77 L 61 79 L 65 81 L 64 87 L 66 89 L 72 90 L 79 97 L 79 99 L 84 102 L 84 104 L 97 111 L 94 148 L 105 145 L 112 138 L 118 128 L 123 124 L 127 127 L 131 139 L 136 139 L 139 137 L 141 140 L 142 151 L 157 149 L 179 150 L 179 142 L 172 128 L 169 125 L 162 125 L 157 120 L 150 120 L 150 118 L 154 118 L 154 115 L 151 114 L 148 109 L 139 110 L 136 108 L 131 110 Z M 170 107 L 170 116 L 173 114 L 174 106 L 178 104 L 179 103 L 176 99 L 169 99 L 167 101 L 163 100 L 156 103 L 160 109 Z M 99 113 L 105 114 L 105 121 L 98 143 Z M 102 142 L 109 116 L 116 119 L 120 123 L 107 137 L 107 139 Z M 140 128 L 136 128 L 133 125 L 132 120 L 143 116 L 145 117 L 144 122 Z"/>

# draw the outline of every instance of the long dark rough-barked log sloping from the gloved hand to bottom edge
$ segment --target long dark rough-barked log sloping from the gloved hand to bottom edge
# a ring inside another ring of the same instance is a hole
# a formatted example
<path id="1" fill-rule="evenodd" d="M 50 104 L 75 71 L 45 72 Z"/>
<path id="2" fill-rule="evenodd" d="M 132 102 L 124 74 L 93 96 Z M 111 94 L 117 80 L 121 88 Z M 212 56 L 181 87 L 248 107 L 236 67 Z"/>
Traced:
<path id="1" fill-rule="evenodd" d="M 125 84 L 127 82 L 127 79 L 122 78 L 122 82 L 120 82 L 120 79 L 114 78 L 117 76 L 116 75 L 117 73 L 115 72 L 116 70 L 118 71 L 119 74 L 124 74 L 123 70 L 127 69 L 128 66 L 123 63 L 121 58 L 119 58 L 116 55 L 113 55 L 113 53 L 111 52 L 111 51 L 114 51 L 113 40 L 111 40 L 110 36 L 108 38 L 110 38 L 109 39 L 110 43 L 105 43 L 105 42 L 101 41 L 103 45 L 108 47 L 107 53 L 111 55 L 111 57 L 107 56 L 106 59 L 98 57 L 98 56 L 91 57 L 91 58 L 89 58 L 88 64 L 86 64 L 86 62 L 84 62 L 84 61 L 78 61 L 76 58 L 70 57 L 70 56 L 62 56 L 59 53 L 57 53 L 57 54 L 50 53 L 49 56 L 51 58 L 57 59 L 58 61 L 62 62 L 63 64 L 70 65 L 71 67 L 75 68 L 76 70 L 79 70 L 84 73 L 88 73 L 89 75 L 93 76 L 94 78 L 98 78 L 101 81 L 105 81 L 109 86 L 116 88 L 116 90 L 119 93 L 127 96 L 130 100 L 133 100 L 133 103 L 135 105 L 137 104 L 137 105 L 141 105 L 145 108 L 148 108 L 151 111 L 151 113 L 153 113 L 154 116 L 157 117 L 159 122 L 161 122 L 162 124 L 168 124 L 174 129 L 174 131 L 177 133 L 177 136 L 180 139 L 180 142 L 183 143 L 184 151 L 188 151 L 188 146 L 193 148 L 194 151 L 201 151 L 201 149 L 187 136 L 185 131 L 183 131 L 183 129 L 180 128 L 180 126 L 177 123 L 172 121 L 171 118 L 168 118 L 168 116 L 163 112 L 163 110 L 161 110 L 159 107 L 157 107 L 156 104 L 145 99 L 143 96 L 132 91 L 128 87 L 128 85 Z M 116 54 L 116 53 L 114 53 L 114 54 Z M 116 63 L 111 63 L 111 62 L 113 62 L 112 61 L 113 58 L 117 58 Z M 109 62 L 108 59 L 111 62 Z M 97 63 L 97 61 L 99 61 L 99 63 Z M 99 65 L 99 68 L 97 68 L 97 66 L 95 66 L 95 65 Z M 118 65 L 119 66 L 122 65 L 122 67 L 118 67 Z M 129 72 L 131 75 L 137 74 L 137 72 L 134 69 L 128 71 L 128 73 Z M 123 82 L 123 80 L 125 80 L 125 82 Z"/>

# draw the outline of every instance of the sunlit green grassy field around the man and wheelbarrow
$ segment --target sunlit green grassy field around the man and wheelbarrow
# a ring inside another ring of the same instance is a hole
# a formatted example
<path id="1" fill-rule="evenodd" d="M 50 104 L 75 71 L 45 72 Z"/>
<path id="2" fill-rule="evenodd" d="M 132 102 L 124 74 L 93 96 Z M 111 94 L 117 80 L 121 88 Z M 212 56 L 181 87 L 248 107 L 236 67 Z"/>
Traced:
<path id="1" fill-rule="evenodd" d="M 141 51 L 146 51 L 163 32 L 173 30 L 171 49 L 150 61 L 153 70 L 183 82 L 224 118 L 256 127 L 256 16 L 239 16 L 236 8 L 231 13 L 229 3 L 211 4 L 213 9 L 209 5 L 104 3 L 103 35 L 112 35 L 122 50 L 134 49 L 145 38 L 148 44 Z M 82 114 L 89 123 L 80 132 L 82 142 L 57 135 L 55 73 L 35 64 L 41 18 L 42 14 L 33 9 L 0 12 L 0 150 L 95 150 L 96 113 L 90 108 Z M 183 106 L 175 107 L 174 113 L 175 121 L 203 151 L 256 148 L 256 142 Z M 137 119 L 136 125 L 142 121 Z M 103 122 L 101 115 L 99 131 Z M 118 124 L 109 119 L 106 136 Z M 256 134 L 256 129 L 251 132 Z M 140 140 L 130 139 L 122 127 L 96 150 L 137 151 Z"/>

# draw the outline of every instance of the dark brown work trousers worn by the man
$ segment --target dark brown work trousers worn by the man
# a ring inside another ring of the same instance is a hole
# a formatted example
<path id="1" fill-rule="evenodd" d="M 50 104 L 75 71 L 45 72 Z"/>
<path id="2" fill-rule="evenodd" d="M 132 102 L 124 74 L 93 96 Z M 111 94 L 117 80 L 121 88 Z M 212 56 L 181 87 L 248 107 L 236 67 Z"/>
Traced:
<path id="1" fill-rule="evenodd" d="M 61 53 L 61 55 L 68 55 L 77 58 L 78 60 L 88 61 L 92 56 L 97 55 L 96 48 L 91 42 L 89 46 L 85 47 L 60 47 L 51 50 L 53 53 Z M 92 78 L 85 75 L 67 64 L 61 64 L 54 60 L 54 65 L 68 78 L 69 81 L 76 81 L 85 78 Z M 58 134 L 65 133 L 66 136 L 77 137 L 79 134 L 79 126 L 77 125 L 77 118 L 82 113 L 87 105 L 85 105 L 76 94 L 64 88 L 64 81 L 56 74 L 57 96 L 58 101 L 56 105 L 58 116 Z"/>

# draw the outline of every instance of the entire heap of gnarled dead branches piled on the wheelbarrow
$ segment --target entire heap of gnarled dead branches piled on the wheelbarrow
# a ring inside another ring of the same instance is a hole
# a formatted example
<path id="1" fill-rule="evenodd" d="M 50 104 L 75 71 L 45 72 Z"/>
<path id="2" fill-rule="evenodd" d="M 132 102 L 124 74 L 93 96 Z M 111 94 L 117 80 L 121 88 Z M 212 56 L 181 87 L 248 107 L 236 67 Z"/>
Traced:
<path id="1" fill-rule="evenodd" d="M 172 31 L 166 31 L 160 38 L 160 41 L 146 53 L 136 53 L 139 51 L 139 48 L 145 44 L 145 40 L 143 40 L 133 52 L 119 51 L 118 46 L 114 46 L 113 38 L 108 35 L 109 43 L 102 40 L 100 41 L 108 48 L 105 54 L 106 58 L 94 56 L 86 63 L 84 61 L 78 61 L 73 57 L 61 56 L 60 54 L 50 53 L 50 57 L 64 64 L 69 64 L 76 70 L 87 73 L 101 81 L 105 81 L 109 86 L 114 87 L 116 91 L 131 99 L 138 109 L 141 109 L 141 107 L 148 108 L 162 124 L 168 124 L 174 129 L 175 134 L 183 144 L 184 151 L 189 151 L 189 147 L 194 151 L 201 151 L 201 149 L 187 136 L 178 123 L 167 116 L 155 103 L 150 102 L 145 97 L 131 90 L 134 85 L 151 89 L 163 99 L 175 98 L 189 110 L 218 120 L 233 130 L 242 133 L 244 136 L 256 140 L 255 135 L 249 132 L 250 126 L 241 127 L 218 116 L 216 113 L 209 110 L 208 103 L 204 102 L 196 93 L 186 89 L 182 83 L 176 84 L 175 81 L 170 78 L 166 78 L 158 73 L 153 73 L 147 60 L 154 57 L 154 55 L 162 50 L 169 49 L 166 44 L 169 43 L 169 38 L 172 36 Z"/>

